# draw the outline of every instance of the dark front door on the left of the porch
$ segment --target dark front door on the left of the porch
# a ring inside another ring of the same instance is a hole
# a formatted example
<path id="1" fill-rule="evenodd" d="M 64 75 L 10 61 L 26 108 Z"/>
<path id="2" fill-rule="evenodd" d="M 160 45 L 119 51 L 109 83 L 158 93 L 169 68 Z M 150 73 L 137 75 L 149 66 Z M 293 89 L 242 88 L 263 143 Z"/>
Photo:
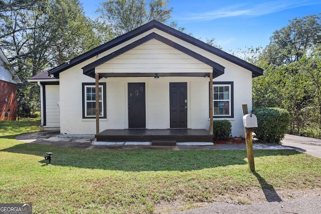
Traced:
<path id="1" fill-rule="evenodd" d="M 145 83 L 128 83 L 128 127 L 146 128 Z"/>

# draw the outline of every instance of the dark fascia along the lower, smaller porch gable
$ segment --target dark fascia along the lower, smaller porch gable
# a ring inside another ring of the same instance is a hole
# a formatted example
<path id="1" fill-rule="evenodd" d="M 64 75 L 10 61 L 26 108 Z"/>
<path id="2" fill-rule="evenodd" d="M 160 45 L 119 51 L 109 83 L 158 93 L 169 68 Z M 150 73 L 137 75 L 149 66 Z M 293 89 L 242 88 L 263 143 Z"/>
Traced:
<path id="1" fill-rule="evenodd" d="M 179 45 L 179 44 L 177 44 L 177 43 L 175 43 L 165 37 L 162 37 L 156 33 L 150 33 L 147 36 L 145 36 L 145 37 L 143 37 L 143 38 L 141 38 L 141 39 L 139 39 L 139 40 L 137 40 L 137 41 L 135 41 L 135 42 L 105 56 L 105 57 L 102 57 L 101 59 L 96 60 L 95 62 L 92 62 L 92 63 L 86 65 L 85 67 L 82 68 L 83 73 L 89 77 L 94 78 L 95 77 L 95 68 L 97 66 L 99 66 L 99 65 L 101 65 L 101 64 L 103 64 L 103 63 L 125 53 L 126 51 L 129 51 L 129 50 L 131 50 L 131 49 L 133 49 L 133 48 L 135 48 L 135 47 L 137 47 L 137 46 L 139 46 L 139 45 L 141 45 L 151 39 L 156 39 L 160 42 L 163 42 L 163 43 L 171 46 L 172 48 L 175 48 L 175 49 L 211 66 L 213 68 L 213 77 L 218 77 L 218 76 L 224 74 L 225 67 L 221 66 L 220 64 L 218 64 L 218 63 L 216 63 L 206 57 L 203 57 L 202 55 L 200 55 L 198 53 L 195 53 L 194 51 L 191 51 L 190 49 L 185 48 L 184 46 L 181 46 L 181 45 Z"/>

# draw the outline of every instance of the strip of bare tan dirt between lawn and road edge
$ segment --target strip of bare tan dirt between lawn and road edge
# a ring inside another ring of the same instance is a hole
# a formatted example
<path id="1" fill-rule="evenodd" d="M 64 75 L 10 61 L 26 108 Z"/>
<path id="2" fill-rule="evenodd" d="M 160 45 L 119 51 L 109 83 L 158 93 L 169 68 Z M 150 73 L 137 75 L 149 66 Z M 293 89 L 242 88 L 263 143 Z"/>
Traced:
<path id="1" fill-rule="evenodd" d="M 321 188 L 314 189 L 279 189 L 269 190 L 259 187 L 236 189 L 230 186 L 222 194 L 214 195 L 211 202 L 193 202 L 177 199 L 174 201 L 162 201 L 154 206 L 154 213 L 175 212 L 194 208 L 205 207 L 209 203 L 225 202 L 228 204 L 257 204 L 273 201 L 284 201 L 300 197 L 310 197 L 320 195 Z"/>

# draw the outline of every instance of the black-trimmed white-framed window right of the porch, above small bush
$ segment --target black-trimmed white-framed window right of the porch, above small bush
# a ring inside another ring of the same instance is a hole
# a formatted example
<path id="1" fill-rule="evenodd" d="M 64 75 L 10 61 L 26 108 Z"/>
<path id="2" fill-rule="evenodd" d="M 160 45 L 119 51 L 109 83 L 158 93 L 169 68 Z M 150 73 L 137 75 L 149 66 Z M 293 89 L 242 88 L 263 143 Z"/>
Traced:
<path id="1" fill-rule="evenodd" d="M 233 116 L 233 82 L 213 82 L 213 117 Z"/>

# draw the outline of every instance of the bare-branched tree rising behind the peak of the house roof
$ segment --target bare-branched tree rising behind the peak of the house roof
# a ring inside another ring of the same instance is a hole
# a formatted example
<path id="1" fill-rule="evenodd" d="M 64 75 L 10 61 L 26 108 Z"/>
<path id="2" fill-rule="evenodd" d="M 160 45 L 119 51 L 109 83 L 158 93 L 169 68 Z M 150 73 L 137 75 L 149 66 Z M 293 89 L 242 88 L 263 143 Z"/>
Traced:
<path id="1" fill-rule="evenodd" d="M 109 0 L 97 10 L 103 26 L 108 26 L 114 37 L 156 20 L 161 23 L 171 18 L 173 8 L 168 0 Z M 175 24 L 174 24 L 175 25 Z"/>

